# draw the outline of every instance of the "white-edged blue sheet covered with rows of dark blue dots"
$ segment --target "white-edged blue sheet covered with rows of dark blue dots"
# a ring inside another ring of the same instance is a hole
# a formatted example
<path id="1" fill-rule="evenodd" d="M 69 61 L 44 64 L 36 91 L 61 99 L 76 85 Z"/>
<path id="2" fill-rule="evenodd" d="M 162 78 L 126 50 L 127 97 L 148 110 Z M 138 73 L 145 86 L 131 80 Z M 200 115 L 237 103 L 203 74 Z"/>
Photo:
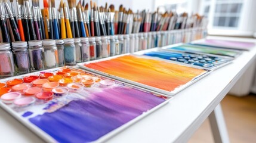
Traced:
<path id="1" fill-rule="evenodd" d="M 177 61 L 178 63 L 192 64 L 206 69 L 218 69 L 232 62 L 234 58 L 211 54 L 189 54 L 178 51 L 164 51 L 159 48 L 147 49 L 135 52 L 137 55 L 163 58 L 165 60 Z"/>

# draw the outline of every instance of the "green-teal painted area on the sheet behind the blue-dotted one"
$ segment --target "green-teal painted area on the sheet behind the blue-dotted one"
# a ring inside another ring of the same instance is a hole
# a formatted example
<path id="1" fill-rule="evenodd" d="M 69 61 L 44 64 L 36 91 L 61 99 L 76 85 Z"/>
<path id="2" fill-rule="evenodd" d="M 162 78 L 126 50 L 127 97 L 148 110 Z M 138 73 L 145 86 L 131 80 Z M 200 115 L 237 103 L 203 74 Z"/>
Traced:
<path id="1" fill-rule="evenodd" d="M 193 52 L 193 53 L 205 53 L 205 54 L 214 54 L 214 55 L 224 55 L 229 57 L 236 57 L 240 54 L 239 51 L 233 51 L 229 49 L 220 49 L 220 48 L 209 48 L 203 46 L 193 46 L 193 45 L 180 45 L 167 49 L 183 51 L 183 52 Z"/>

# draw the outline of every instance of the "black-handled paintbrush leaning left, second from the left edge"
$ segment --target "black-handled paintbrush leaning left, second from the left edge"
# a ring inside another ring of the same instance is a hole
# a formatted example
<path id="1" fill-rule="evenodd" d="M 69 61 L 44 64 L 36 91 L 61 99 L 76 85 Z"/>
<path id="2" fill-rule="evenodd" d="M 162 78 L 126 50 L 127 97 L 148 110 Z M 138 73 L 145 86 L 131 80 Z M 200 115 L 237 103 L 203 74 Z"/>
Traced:
<path id="1" fill-rule="evenodd" d="M 10 17 L 9 21 L 10 21 L 11 30 L 13 32 L 14 39 L 15 41 L 20 41 L 20 32 L 18 31 L 16 21 L 14 20 L 13 12 L 11 11 L 11 8 L 7 4 L 7 0 L 4 1 L 4 4 L 7 12 L 9 13 L 9 17 Z"/>

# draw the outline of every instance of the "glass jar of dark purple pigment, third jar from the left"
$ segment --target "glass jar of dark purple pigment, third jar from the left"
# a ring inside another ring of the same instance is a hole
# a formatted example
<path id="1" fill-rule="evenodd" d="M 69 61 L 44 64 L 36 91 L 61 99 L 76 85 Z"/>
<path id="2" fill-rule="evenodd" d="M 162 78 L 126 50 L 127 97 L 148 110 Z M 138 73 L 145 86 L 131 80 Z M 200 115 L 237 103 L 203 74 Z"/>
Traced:
<path id="1" fill-rule="evenodd" d="M 42 53 L 42 41 L 29 41 L 29 60 L 31 71 L 44 70 L 44 60 Z"/>

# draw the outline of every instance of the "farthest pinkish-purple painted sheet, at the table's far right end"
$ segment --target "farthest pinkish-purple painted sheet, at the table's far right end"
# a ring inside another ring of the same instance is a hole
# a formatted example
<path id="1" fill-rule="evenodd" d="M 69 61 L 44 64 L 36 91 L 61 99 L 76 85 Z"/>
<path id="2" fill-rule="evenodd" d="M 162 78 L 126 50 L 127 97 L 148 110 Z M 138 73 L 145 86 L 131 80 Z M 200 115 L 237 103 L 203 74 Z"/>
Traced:
<path id="1" fill-rule="evenodd" d="M 255 46 L 252 42 L 226 41 L 220 39 L 201 39 L 193 41 L 193 45 L 212 46 L 217 48 L 239 49 L 249 51 Z"/>

